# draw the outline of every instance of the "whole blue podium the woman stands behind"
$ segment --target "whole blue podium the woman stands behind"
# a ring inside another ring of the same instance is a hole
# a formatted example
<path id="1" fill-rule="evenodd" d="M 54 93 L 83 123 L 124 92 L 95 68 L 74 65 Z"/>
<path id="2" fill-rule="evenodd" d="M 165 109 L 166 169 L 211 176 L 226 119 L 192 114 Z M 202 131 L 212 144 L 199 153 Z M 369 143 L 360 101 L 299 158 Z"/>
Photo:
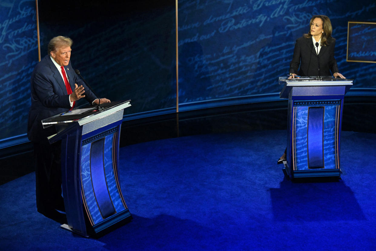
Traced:
<path id="1" fill-rule="evenodd" d="M 280 77 L 280 98 L 288 98 L 284 172 L 293 178 L 340 177 L 343 99 L 352 79 Z"/>

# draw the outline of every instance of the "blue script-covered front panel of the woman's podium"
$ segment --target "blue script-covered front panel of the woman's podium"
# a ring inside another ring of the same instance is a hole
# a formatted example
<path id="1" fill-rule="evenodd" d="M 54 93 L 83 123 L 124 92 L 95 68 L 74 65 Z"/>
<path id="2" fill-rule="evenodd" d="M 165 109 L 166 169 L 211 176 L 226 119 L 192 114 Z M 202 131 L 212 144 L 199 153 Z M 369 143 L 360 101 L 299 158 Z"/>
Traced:
<path id="1" fill-rule="evenodd" d="M 337 105 L 332 105 L 334 102 Z M 294 101 L 293 170 L 339 169 L 337 125 L 341 100 Z"/>

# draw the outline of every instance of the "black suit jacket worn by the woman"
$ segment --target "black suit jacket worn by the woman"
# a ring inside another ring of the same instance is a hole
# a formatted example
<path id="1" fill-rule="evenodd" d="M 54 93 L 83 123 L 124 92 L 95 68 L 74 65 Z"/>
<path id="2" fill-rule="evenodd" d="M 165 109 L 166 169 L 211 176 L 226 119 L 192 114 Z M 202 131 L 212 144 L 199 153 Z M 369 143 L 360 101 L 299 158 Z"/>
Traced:
<path id="1" fill-rule="evenodd" d="M 290 73 L 300 76 L 331 76 L 335 72 L 339 72 L 337 61 L 334 58 L 335 39 L 329 38 L 327 43 L 327 46 L 321 46 L 320 53 L 318 53 L 320 58 L 319 74 L 316 47 L 314 47 L 312 38 L 298 38 L 294 47 L 293 60 L 290 63 Z"/>

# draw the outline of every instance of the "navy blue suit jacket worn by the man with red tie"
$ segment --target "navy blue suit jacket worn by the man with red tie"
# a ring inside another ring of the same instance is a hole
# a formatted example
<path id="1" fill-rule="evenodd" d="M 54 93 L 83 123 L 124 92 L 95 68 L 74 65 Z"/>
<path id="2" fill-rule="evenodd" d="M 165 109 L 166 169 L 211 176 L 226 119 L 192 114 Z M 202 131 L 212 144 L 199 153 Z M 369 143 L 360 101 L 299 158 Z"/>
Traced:
<path id="1" fill-rule="evenodd" d="M 96 96 L 73 70 L 71 62 L 64 67 L 72 91 L 74 84 L 83 85 L 85 99 L 92 103 Z M 47 137 L 55 134 L 54 126 L 43 129 L 42 120 L 70 109 L 69 95 L 59 70 L 50 55 L 45 56 L 31 75 L 31 107 L 27 122 L 27 137 L 33 142 L 48 143 Z"/>

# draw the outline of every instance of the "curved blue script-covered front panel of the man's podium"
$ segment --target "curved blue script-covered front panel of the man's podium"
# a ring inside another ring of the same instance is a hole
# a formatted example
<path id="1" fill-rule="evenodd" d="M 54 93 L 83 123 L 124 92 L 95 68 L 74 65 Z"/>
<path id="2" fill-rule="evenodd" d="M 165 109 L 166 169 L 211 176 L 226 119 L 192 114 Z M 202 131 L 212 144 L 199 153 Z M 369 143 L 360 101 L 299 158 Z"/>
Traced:
<path id="1" fill-rule="evenodd" d="M 117 178 L 117 136 L 120 126 L 82 141 L 82 196 L 91 225 L 127 210 Z"/>

